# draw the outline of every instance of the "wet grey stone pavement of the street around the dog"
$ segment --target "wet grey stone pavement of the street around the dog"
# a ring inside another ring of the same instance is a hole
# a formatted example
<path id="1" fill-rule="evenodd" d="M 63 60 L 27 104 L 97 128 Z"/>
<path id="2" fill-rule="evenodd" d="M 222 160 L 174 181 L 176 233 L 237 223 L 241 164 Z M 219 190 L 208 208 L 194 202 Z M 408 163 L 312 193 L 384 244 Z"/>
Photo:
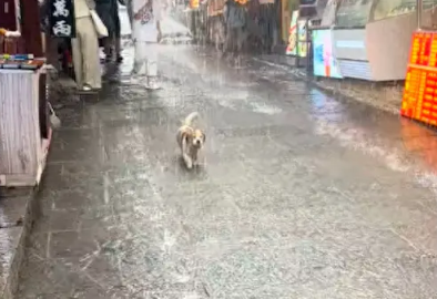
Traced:
<path id="1" fill-rule="evenodd" d="M 59 112 L 18 298 L 437 298 L 431 131 L 186 45 L 162 48 L 160 91 L 131 64 Z"/>

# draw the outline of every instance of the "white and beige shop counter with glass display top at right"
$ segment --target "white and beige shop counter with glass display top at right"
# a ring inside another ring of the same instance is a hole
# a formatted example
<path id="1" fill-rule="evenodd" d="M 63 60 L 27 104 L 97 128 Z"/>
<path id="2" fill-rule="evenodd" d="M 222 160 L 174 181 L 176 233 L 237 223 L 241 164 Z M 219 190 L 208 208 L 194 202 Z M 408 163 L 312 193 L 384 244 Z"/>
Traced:
<path id="1" fill-rule="evenodd" d="M 424 19 L 433 18 L 434 2 L 424 0 Z M 411 33 L 417 28 L 416 16 L 416 0 L 332 0 L 321 28 L 332 28 L 331 34 L 316 33 L 313 43 L 321 44 L 322 34 L 325 40 L 331 35 L 327 48 L 332 44 L 333 49 L 325 52 L 331 52 L 332 61 L 338 62 L 344 78 L 404 80 Z M 313 50 L 316 65 L 321 63 L 321 47 Z M 316 69 L 315 74 L 319 75 Z"/>

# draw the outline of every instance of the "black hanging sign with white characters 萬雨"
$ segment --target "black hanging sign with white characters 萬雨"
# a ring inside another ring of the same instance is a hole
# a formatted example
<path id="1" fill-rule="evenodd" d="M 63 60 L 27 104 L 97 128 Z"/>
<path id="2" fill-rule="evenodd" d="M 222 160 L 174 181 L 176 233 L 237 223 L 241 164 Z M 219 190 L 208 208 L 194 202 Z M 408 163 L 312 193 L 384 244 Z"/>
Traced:
<path id="1" fill-rule="evenodd" d="M 50 1 L 50 32 L 55 38 L 75 38 L 73 0 Z"/>

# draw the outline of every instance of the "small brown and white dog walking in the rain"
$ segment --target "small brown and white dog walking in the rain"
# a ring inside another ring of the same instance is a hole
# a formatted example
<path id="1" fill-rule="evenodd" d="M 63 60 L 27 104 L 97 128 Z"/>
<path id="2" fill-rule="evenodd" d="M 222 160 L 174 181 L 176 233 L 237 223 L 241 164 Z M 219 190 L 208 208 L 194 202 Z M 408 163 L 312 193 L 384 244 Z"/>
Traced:
<path id="1" fill-rule="evenodd" d="M 197 117 L 197 112 L 190 113 L 177 130 L 177 144 L 181 148 L 182 158 L 189 169 L 197 164 L 199 152 L 206 141 L 205 133 L 193 125 L 194 120 Z"/>

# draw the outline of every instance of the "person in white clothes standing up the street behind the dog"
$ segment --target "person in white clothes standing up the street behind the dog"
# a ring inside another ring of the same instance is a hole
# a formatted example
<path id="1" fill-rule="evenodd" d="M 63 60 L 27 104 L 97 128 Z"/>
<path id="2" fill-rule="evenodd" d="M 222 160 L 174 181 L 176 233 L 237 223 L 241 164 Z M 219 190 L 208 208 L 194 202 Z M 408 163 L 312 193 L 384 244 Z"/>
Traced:
<path id="1" fill-rule="evenodd" d="M 132 0 L 133 73 L 146 76 L 146 87 L 159 89 L 157 43 L 161 40 L 162 0 Z"/>

